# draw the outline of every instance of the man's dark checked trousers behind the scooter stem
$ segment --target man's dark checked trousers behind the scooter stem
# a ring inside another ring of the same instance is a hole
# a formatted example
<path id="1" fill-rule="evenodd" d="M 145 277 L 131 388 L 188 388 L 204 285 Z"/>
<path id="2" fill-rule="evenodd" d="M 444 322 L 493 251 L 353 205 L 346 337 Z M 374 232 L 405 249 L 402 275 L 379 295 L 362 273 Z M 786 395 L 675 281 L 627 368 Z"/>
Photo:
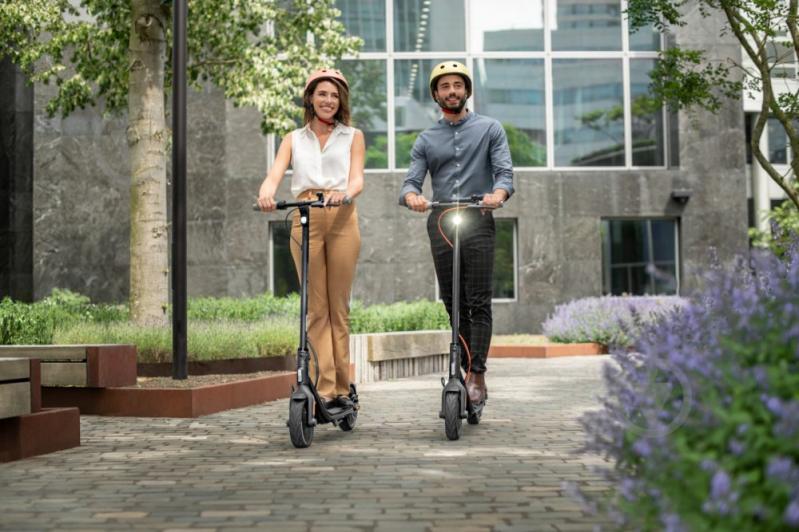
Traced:
<path id="1" fill-rule="evenodd" d="M 444 209 L 434 209 L 430 213 L 427 218 L 427 234 L 430 237 L 430 251 L 433 254 L 441 298 L 447 307 L 451 322 L 453 250 L 441 235 L 441 231 L 450 242 L 454 243 L 455 225 L 452 220 L 456 211 L 446 213 L 444 211 Z M 491 295 L 496 228 L 491 212 L 483 213 L 480 209 L 464 208 L 460 209 L 460 215 L 462 222 L 459 227 L 461 256 L 459 332 L 471 351 L 472 371 L 483 373 L 486 370 L 486 358 L 491 344 Z M 465 353 L 461 364 L 467 369 L 468 357 Z"/>

